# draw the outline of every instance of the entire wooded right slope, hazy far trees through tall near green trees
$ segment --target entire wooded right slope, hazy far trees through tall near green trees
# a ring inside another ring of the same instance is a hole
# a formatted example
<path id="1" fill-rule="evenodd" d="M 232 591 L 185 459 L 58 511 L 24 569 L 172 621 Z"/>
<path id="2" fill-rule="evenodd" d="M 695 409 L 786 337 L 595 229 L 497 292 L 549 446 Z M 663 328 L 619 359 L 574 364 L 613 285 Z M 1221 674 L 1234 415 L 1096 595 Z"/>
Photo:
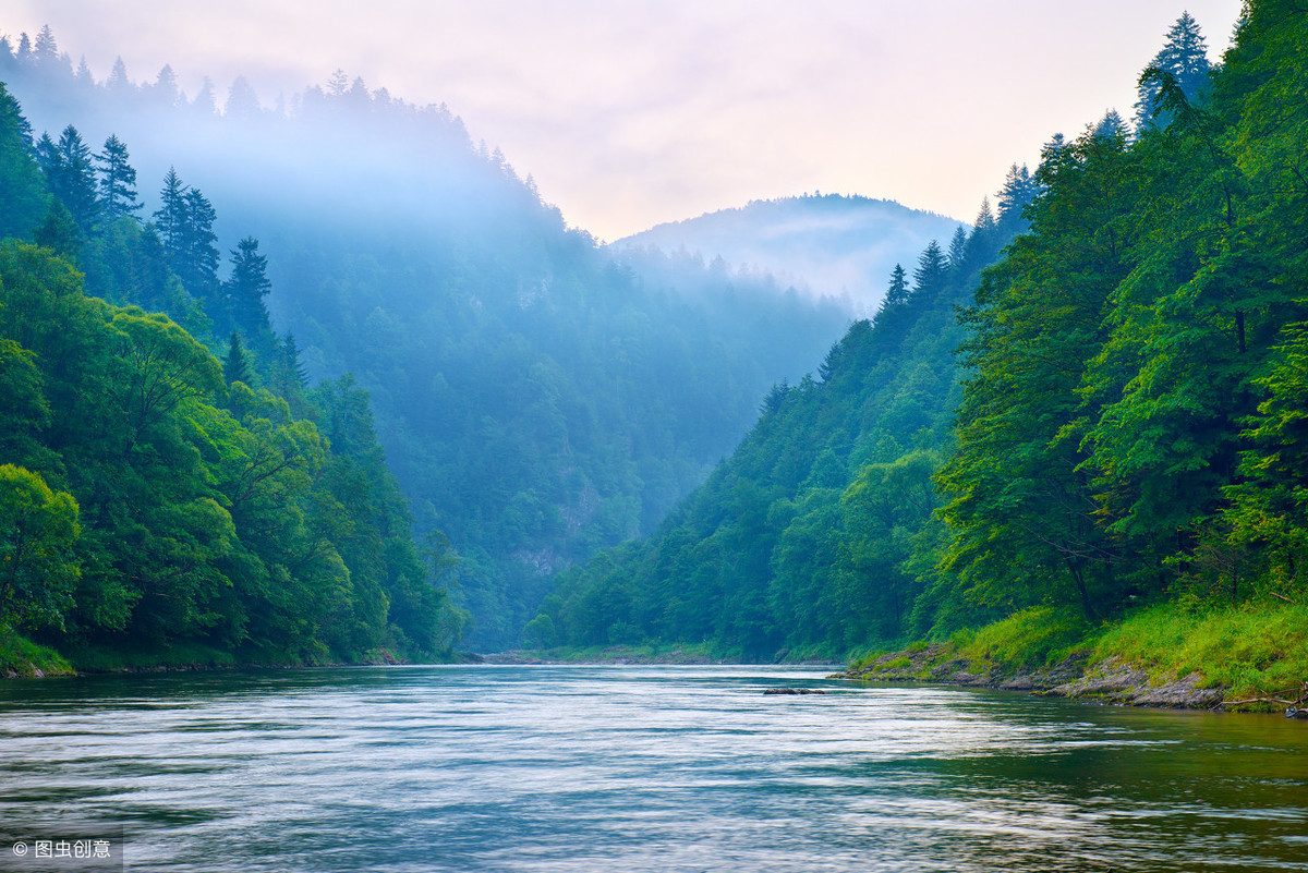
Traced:
<path id="1" fill-rule="evenodd" d="M 1033 606 L 1301 602 L 1305 44 L 1308 13 L 1252 1 L 1209 69 L 1182 16 L 1134 129 L 1110 112 L 1010 174 L 995 229 L 896 271 L 655 537 L 561 575 L 528 642 L 842 656 Z"/>

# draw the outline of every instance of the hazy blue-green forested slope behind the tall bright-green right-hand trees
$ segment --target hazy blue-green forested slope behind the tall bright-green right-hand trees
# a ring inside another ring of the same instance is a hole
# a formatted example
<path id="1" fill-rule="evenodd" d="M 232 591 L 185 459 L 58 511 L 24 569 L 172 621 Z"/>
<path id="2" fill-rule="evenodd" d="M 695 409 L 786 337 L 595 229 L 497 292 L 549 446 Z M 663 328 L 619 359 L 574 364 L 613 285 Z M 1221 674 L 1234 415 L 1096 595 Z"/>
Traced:
<path id="1" fill-rule="evenodd" d="M 818 367 L 773 387 L 735 453 L 658 533 L 559 578 L 527 626 L 536 646 L 710 642 L 723 653 L 841 655 L 930 618 L 914 548 L 934 532 L 931 476 L 959 403 L 956 310 L 1025 226 L 1036 192 L 1014 167 L 948 250 L 893 265 L 875 319 Z"/>

